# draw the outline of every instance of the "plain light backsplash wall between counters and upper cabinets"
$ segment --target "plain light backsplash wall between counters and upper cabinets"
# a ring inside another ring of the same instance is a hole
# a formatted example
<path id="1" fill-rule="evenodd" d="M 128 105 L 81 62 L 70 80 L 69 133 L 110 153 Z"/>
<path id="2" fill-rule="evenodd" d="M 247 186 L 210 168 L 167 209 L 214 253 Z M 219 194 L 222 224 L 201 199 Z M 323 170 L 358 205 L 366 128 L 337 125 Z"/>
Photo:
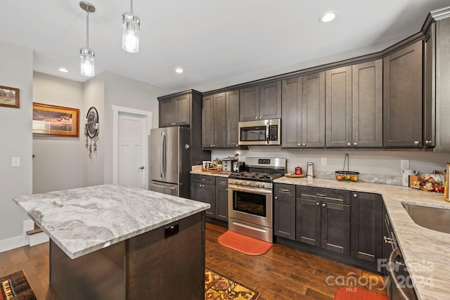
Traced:
<path id="1" fill-rule="evenodd" d="M 306 173 L 307 162 L 314 164 L 314 177 L 335 179 L 335 171 L 342 171 L 345 153 L 349 153 L 349 171 L 358 171 L 359 181 L 401 185 L 400 159 L 409 159 L 409 169 L 420 174 L 433 170 L 444 171 L 450 155 L 446 152 L 425 152 L 418 150 L 283 150 L 279 146 L 250 146 L 249 150 L 212 150 L 211 158 L 222 159 L 238 154 L 240 161 L 245 157 L 283 157 L 288 161 L 288 172 L 293 173 L 300 166 Z M 326 164 L 322 164 L 325 158 Z M 345 169 L 347 170 L 347 168 Z"/>

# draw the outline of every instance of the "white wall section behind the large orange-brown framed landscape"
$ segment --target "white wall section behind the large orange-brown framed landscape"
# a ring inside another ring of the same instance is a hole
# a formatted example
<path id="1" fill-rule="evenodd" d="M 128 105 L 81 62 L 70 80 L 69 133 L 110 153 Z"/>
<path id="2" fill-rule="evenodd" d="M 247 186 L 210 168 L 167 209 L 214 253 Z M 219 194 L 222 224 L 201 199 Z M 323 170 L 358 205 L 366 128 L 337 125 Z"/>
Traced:
<path id="1" fill-rule="evenodd" d="M 33 193 L 84 185 L 83 84 L 34 72 L 33 102 L 78 108 L 79 137 L 33 137 Z"/>

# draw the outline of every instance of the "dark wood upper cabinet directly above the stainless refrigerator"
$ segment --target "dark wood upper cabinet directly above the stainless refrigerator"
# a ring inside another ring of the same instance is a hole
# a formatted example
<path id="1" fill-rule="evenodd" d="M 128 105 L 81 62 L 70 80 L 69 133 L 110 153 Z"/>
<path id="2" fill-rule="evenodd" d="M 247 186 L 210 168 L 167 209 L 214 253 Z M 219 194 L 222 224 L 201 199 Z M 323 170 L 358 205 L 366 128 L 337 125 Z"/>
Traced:
<path id="1" fill-rule="evenodd" d="M 201 110 L 201 93 L 188 90 L 158 97 L 159 125 L 168 126 L 191 126 L 192 115 Z"/>

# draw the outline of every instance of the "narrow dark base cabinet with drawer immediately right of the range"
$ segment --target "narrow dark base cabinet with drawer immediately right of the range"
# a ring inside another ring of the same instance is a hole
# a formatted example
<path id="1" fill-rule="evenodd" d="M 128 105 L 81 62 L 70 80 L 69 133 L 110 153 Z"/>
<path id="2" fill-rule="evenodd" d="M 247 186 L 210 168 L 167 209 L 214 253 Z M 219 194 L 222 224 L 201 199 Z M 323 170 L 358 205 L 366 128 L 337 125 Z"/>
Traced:
<path id="1" fill-rule="evenodd" d="M 274 184 L 274 235 L 295 240 L 295 185 Z"/>

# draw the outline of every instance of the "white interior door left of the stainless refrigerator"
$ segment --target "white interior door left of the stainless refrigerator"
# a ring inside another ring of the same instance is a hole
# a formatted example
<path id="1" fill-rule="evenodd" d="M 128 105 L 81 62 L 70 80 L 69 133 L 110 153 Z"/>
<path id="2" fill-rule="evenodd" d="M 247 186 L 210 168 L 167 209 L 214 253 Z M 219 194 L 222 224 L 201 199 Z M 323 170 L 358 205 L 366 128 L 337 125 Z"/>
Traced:
<path id="1" fill-rule="evenodd" d="M 146 116 L 119 113 L 118 183 L 146 188 Z"/>

